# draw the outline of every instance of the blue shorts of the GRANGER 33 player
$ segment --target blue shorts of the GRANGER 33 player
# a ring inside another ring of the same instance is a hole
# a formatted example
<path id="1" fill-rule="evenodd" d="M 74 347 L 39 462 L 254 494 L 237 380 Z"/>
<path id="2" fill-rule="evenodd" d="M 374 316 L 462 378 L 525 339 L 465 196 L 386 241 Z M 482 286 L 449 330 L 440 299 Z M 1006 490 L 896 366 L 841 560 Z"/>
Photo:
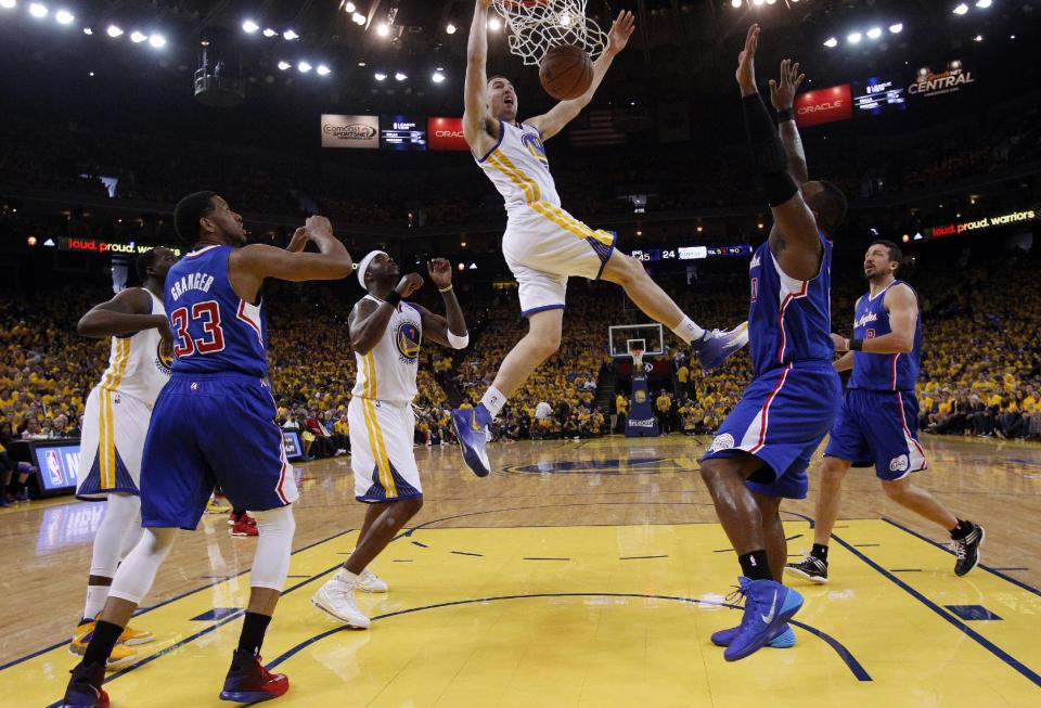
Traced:
<path id="1" fill-rule="evenodd" d="M 141 524 L 194 529 L 216 485 L 260 512 L 299 493 L 268 385 L 235 373 L 174 374 L 152 411 L 141 463 Z"/>

